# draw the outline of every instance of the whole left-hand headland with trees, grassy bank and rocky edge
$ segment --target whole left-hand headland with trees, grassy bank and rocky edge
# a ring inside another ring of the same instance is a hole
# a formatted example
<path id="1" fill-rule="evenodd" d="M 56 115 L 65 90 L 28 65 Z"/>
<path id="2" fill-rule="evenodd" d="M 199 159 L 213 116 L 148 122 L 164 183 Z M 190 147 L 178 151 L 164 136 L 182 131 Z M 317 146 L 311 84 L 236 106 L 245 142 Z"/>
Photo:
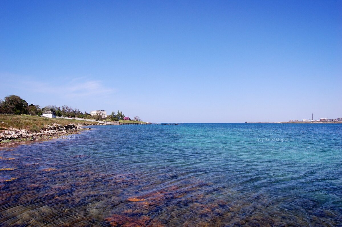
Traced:
<path id="1" fill-rule="evenodd" d="M 54 117 L 42 117 L 43 113 L 53 111 Z M 139 116 L 133 119 L 125 117 L 122 111 L 111 115 L 91 115 L 80 112 L 77 108 L 62 105 L 48 105 L 41 108 L 30 104 L 17 95 L 0 99 L 0 143 L 11 141 L 33 141 L 54 139 L 67 134 L 78 134 L 87 125 L 111 125 L 116 121 L 121 124 L 147 124 Z"/>

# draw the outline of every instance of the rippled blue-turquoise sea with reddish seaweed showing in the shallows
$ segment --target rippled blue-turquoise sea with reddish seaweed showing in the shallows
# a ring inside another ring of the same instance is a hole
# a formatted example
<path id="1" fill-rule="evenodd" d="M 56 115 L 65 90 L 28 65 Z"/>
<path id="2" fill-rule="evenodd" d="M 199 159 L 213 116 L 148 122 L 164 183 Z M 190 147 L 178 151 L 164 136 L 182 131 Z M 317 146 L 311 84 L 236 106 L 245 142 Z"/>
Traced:
<path id="1" fill-rule="evenodd" d="M 0 147 L 0 226 L 342 226 L 342 124 L 91 128 Z"/>

